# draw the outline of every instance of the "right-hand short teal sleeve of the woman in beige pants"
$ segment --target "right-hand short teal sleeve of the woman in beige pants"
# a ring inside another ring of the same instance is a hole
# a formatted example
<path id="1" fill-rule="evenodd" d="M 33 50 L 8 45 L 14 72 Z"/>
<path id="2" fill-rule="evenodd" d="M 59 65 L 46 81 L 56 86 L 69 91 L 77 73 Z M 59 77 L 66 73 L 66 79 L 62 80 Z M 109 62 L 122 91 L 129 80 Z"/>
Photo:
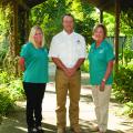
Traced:
<path id="1" fill-rule="evenodd" d="M 111 44 L 108 44 L 108 47 L 106 47 L 106 62 L 114 60 L 114 59 L 115 59 L 115 55 L 113 52 L 113 47 Z"/>

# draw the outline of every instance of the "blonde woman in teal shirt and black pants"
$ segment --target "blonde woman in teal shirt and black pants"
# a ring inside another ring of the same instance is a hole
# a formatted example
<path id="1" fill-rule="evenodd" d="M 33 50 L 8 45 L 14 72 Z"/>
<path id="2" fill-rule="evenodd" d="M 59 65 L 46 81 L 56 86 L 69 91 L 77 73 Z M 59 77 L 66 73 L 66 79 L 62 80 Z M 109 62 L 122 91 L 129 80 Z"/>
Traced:
<path id="1" fill-rule="evenodd" d="M 27 95 L 28 133 L 43 133 L 42 100 L 48 82 L 48 51 L 40 27 L 34 25 L 20 53 L 20 66 L 23 73 L 23 89 Z"/>

